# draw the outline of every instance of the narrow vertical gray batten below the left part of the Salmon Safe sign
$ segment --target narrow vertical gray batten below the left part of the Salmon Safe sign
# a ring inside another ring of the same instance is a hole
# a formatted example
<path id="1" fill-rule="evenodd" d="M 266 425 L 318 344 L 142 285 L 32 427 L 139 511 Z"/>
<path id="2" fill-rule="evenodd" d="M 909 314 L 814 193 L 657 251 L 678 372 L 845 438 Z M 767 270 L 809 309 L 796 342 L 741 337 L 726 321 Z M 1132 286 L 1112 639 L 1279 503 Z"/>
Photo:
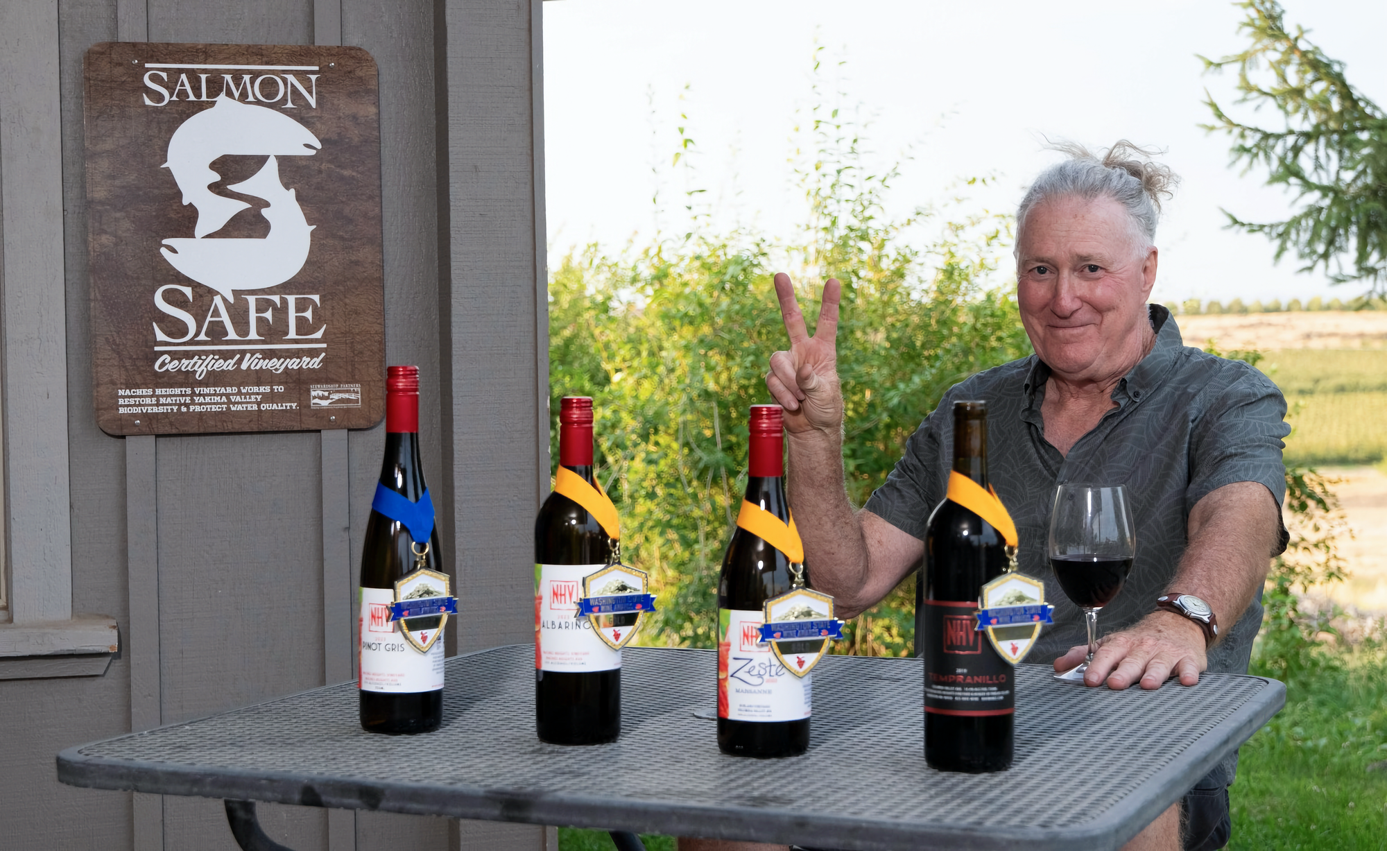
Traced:
<path id="1" fill-rule="evenodd" d="M 160 523 L 154 435 L 125 438 L 125 541 L 130 621 L 130 729 L 164 723 L 160 664 Z M 164 797 L 135 793 L 135 851 L 162 851 Z"/>

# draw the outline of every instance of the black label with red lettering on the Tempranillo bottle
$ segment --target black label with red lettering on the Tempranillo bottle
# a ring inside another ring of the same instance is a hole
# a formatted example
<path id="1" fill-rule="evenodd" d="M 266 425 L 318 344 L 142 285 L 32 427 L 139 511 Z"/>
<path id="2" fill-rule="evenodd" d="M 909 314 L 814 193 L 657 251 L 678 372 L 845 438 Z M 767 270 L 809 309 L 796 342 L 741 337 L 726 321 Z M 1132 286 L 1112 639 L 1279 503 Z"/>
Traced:
<path id="1" fill-rule="evenodd" d="M 978 604 L 925 600 L 925 711 L 1010 715 L 1015 671 L 978 629 Z"/>

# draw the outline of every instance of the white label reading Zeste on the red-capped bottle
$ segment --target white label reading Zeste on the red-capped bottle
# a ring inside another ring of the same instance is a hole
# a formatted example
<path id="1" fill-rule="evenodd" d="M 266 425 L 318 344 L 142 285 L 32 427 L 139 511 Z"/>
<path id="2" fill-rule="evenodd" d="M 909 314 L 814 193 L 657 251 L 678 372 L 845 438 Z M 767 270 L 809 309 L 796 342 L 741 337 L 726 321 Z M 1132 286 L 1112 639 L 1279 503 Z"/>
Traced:
<path id="1" fill-rule="evenodd" d="M 795 676 L 761 640 L 764 614 L 718 608 L 717 717 L 732 721 L 809 718 L 813 674 Z"/>

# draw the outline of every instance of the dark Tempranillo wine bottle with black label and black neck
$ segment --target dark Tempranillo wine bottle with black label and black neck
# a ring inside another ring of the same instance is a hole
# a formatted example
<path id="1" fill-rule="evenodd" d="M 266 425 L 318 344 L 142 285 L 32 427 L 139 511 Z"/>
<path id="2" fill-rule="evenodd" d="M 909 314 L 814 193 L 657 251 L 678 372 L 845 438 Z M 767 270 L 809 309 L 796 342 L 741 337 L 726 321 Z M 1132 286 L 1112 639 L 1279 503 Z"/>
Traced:
<path id="1" fill-rule="evenodd" d="M 953 471 L 988 488 L 988 406 L 956 402 Z M 976 629 L 982 586 L 1007 570 L 1006 541 L 974 511 L 945 499 L 925 528 L 925 762 L 942 771 L 1011 765 L 1014 669 Z"/>

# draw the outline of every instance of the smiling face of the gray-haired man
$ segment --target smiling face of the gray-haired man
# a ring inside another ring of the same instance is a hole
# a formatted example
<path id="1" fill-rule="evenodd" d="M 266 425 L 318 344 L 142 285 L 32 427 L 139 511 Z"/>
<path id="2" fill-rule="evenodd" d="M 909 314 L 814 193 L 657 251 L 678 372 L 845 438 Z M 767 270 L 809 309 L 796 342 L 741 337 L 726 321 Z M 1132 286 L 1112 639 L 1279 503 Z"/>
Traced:
<path id="1" fill-rule="evenodd" d="M 1021 322 L 1068 381 L 1122 376 L 1146 351 L 1155 248 L 1142 249 L 1117 201 L 1058 197 L 1026 216 L 1017 252 Z"/>

